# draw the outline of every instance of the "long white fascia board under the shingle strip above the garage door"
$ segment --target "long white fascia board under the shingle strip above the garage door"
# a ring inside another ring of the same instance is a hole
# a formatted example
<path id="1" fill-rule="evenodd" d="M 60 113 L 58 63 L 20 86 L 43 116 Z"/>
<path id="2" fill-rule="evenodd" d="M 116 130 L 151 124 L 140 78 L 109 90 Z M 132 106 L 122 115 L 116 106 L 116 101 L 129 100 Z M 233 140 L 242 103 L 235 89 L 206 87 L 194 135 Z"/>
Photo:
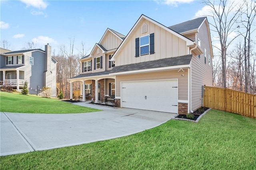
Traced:
<path id="1" fill-rule="evenodd" d="M 124 72 L 118 72 L 118 73 L 110 73 L 109 75 L 126 75 L 126 74 L 134 74 L 134 73 L 148 73 L 148 72 L 154 72 L 154 71 L 167 71 L 167 70 L 175 70 L 175 69 L 186 69 L 190 68 L 190 65 L 175 65 L 175 66 L 169 66 L 169 67 L 159 67 L 159 68 L 153 68 L 153 69 L 142 69 L 142 70 L 132 70 L 132 71 L 124 71 Z"/>

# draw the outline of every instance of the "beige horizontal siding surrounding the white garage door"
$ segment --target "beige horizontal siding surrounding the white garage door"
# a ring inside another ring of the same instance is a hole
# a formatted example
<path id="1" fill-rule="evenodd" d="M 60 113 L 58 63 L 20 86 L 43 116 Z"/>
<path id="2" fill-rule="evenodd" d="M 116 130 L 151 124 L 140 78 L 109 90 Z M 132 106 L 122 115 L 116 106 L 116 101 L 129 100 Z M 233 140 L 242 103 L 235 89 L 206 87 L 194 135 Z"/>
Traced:
<path id="1" fill-rule="evenodd" d="M 182 76 L 184 74 L 184 76 Z M 166 80 L 178 79 L 178 99 L 188 100 L 188 70 L 184 72 L 174 71 L 159 71 L 152 73 L 140 73 L 131 75 L 116 76 L 116 97 L 120 97 L 120 83 L 125 81 L 148 81 L 148 80 Z M 159 89 L 161 90 L 161 89 Z"/>

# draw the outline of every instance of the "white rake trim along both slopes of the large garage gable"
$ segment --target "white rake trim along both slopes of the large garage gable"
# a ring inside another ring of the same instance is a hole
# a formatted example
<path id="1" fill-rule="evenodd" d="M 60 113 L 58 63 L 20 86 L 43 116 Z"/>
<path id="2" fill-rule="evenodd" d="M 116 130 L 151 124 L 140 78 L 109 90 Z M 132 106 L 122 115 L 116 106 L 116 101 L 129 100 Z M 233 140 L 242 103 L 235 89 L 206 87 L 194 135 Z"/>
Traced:
<path id="1" fill-rule="evenodd" d="M 184 40 L 186 42 L 186 45 L 194 45 L 194 42 L 188 38 L 186 38 L 185 36 L 179 34 L 178 32 L 175 32 L 174 30 L 171 30 L 170 28 L 160 24 L 159 22 L 156 22 L 155 20 L 152 20 L 151 18 L 145 16 L 145 15 L 141 15 L 140 18 L 137 20 L 137 22 L 134 24 L 134 26 L 132 27 L 132 29 L 130 30 L 130 32 L 128 33 L 128 35 L 126 36 L 126 38 L 124 39 L 124 41 L 120 44 L 120 46 L 118 47 L 118 49 L 116 50 L 116 52 L 114 53 L 114 55 L 111 58 L 111 61 L 114 60 L 114 57 L 118 54 L 118 52 L 122 49 L 122 47 L 124 46 L 124 44 L 126 43 L 126 41 L 128 41 L 128 37 L 133 33 L 134 29 L 136 28 L 136 26 L 140 23 L 140 21 L 142 19 L 146 19 L 150 22 L 152 22 L 153 24 L 156 24 L 157 26 L 159 26 L 160 28 L 163 28 L 164 30 L 170 32 L 171 34 L 174 34 L 175 36 L 177 36 L 178 38 L 181 38 L 182 40 Z"/>

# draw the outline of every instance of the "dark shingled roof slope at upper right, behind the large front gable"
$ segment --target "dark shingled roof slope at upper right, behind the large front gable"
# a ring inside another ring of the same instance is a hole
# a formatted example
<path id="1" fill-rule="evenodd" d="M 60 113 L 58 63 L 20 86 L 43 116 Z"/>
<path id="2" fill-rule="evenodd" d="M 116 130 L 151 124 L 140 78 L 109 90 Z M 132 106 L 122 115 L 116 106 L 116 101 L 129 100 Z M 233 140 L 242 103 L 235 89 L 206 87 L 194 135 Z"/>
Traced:
<path id="1" fill-rule="evenodd" d="M 206 17 L 196 18 L 194 20 L 182 22 L 180 24 L 176 24 L 176 25 L 170 26 L 168 28 L 170 28 L 171 30 L 174 30 L 175 32 L 178 32 L 178 33 L 188 32 L 191 30 L 198 30 L 205 19 L 206 19 Z"/>

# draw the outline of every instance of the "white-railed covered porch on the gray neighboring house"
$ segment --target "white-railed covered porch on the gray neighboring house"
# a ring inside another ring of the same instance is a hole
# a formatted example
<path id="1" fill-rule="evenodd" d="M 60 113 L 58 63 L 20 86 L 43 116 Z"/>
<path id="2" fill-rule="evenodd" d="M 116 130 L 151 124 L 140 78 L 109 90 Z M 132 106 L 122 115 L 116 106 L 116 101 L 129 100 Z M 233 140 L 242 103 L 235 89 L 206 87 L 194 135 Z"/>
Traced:
<path id="1" fill-rule="evenodd" d="M 0 69 L 0 86 L 12 86 L 14 89 L 22 89 L 24 86 L 25 71 L 14 69 Z"/>

